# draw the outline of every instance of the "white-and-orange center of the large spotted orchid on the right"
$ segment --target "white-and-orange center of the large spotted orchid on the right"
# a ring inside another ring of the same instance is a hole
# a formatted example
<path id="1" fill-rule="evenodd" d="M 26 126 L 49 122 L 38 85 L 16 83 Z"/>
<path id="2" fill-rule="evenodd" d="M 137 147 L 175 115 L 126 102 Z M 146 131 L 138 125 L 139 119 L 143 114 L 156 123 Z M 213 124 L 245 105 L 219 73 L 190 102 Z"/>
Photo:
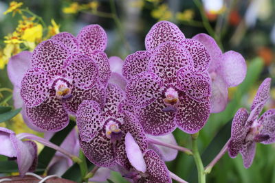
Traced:
<path id="1" fill-rule="evenodd" d="M 165 92 L 164 104 L 167 106 L 162 109 L 164 112 L 176 112 L 179 106 L 179 95 L 174 88 L 168 88 Z"/>

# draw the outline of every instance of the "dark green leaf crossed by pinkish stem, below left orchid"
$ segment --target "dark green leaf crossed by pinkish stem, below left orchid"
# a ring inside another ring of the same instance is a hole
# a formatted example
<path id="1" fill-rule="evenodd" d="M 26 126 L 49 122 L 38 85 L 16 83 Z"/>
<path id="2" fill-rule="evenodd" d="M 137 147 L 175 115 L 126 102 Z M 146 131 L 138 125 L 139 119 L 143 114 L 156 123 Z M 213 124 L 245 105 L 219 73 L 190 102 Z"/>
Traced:
<path id="1" fill-rule="evenodd" d="M 54 143 L 55 145 L 61 145 L 61 143 L 63 143 L 64 139 L 67 137 L 69 132 L 72 131 L 75 125 L 76 122 L 69 121 L 69 125 L 67 125 L 67 127 L 65 127 L 65 129 L 61 130 L 60 132 L 56 132 L 56 134 L 54 134 L 54 136 L 52 136 L 52 138 L 50 139 L 50 142 Z M 39 168 L 45 169 L 54 157 L 55 153 L 55 149 L 44 147 L 39 154 L 39 162 L 41 163 L 41 167 Z M 36 173 L 42 174 L 43 172 L 36 171 Z"/>

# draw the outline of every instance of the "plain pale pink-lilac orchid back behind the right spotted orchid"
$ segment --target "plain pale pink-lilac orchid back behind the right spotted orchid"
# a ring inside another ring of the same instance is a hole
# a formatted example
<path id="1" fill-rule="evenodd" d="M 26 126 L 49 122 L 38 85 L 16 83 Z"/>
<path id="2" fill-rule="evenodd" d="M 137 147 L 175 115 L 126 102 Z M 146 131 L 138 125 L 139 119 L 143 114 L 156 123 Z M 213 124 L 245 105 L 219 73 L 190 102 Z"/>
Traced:
<path id="1" fill-rule="evenodd" d="M 217 42 L 207 34 L 197 34 L 192 39 L 201 42 L 210 53 L 211 112 L 221 112 L 228 103 L 228 88 L 238 86 L 245 78 L 245 59 L 236 51 L 222 53 Z"/>

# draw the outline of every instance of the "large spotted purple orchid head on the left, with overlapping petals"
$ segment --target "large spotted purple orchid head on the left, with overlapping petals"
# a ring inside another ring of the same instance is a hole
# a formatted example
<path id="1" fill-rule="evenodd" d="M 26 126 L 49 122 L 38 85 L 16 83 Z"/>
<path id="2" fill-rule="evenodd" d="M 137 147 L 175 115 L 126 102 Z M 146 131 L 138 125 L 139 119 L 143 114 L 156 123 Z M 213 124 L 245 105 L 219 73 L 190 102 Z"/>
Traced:
<path id="1" fill-rule="evenodd" d="M 75 38 L 63 32 L 34 49 L 31 68 L 21 81 L 28 121 L 45 131 L 62 130 L 86 99 L 104 104 L 109 61 L 107 35 L 99 25 L 84 27 Z M 98 77 L 100 75 L 100 77 Z"/>

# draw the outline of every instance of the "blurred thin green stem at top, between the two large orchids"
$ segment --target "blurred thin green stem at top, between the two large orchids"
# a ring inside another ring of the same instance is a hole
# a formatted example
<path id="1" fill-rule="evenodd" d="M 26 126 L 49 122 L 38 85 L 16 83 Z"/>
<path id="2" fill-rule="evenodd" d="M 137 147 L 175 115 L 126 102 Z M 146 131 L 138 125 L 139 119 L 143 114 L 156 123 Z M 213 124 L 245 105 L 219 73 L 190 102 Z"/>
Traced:
<path id="1" fill-rule="evenodd" d="M 125 47 L 127 55 L 128 55 L 128 53 L 130 53 L 130 46 L 124 37 L 124 30 L 123 30 L 122 24 L 120 23 L 120 19 L 118 19 L 118 14 L 115 9 L 115 1 L 114 0 L 110 0 L 110 6 L 111 6 L 111 12 L 113 14 L 113 21 L 115 21 L 115 25 L 118 27 L 118 32 L 120 34 L 120 38 L 121 38 L 122 42 L 124 43 L 124 47 Z"/>

